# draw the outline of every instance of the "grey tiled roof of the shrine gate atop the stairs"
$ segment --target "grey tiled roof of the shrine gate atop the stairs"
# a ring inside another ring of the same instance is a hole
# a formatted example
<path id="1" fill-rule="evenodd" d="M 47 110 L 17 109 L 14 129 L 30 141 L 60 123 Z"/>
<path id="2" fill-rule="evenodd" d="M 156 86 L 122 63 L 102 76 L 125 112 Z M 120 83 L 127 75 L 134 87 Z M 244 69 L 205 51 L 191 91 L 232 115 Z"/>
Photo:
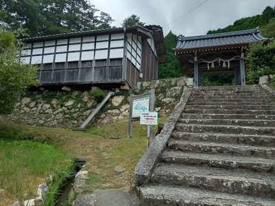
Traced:
<path id="1" fill-rule="evenodd" d="M 254 30 L 181 37 L 173 51 L 188 52 L 214 47 L 247 46 L 250 43 L 259 41 L 272 41 L 272 39 L 264 38 L 259 31 L 259 27 L 256 27 Z"/>

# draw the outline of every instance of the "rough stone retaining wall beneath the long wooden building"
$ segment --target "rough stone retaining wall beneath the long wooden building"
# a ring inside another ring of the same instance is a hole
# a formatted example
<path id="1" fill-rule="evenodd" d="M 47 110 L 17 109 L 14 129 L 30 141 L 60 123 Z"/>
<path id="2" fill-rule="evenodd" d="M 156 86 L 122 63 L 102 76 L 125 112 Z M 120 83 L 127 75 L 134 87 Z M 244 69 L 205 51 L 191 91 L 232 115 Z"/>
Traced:
<path id="1" fill-rule="evenodd" d="M 137 88 L 130 91 L 113 89 L 115 95 L 102 107 L 90 125 L 109 124 L 128 118 L 130 93 L 148 93 L 150 89 L 155 89 L 155 110 L 159 116 L 168 115 L 190 87 L 192 78 L 173 78 L 138 82 Z M 34 126 L 78 128 L 98 103 L 90 91 L 25 92 L 17 102 L 14 113 L 0 119 Z"/>

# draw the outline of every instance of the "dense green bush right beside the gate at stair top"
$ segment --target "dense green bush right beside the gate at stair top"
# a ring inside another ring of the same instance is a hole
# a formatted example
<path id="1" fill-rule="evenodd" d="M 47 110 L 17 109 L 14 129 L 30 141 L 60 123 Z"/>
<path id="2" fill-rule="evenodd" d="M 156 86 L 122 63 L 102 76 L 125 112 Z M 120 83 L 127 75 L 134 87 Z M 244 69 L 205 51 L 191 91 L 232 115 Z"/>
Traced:
<path id="1" fill-rule="evenodd" d="M 259 82 L 260 76 L 275 74 L 275 42 L 268 45 L 263 43 L 254 43 L 248 50 L 248 62 L 250 71 L 248 71 L 248 84 Z"/>

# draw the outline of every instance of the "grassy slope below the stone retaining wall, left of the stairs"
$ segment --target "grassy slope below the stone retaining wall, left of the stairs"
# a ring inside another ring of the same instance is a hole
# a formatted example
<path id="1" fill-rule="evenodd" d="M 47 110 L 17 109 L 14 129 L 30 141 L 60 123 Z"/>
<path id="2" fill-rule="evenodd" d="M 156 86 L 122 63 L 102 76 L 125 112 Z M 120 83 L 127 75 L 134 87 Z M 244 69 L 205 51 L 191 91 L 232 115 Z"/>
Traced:
<path id="1" fill-rule="evenodd" d="M 159 118 L 159 124 L 164 123 L 166 119 L 167 117 Z M 50 166 L 50 168 L 43 168 L 42 170 L 45 171 L 45 173 L 43 173 L 27 165 L 36 165 L 39 161 L 49 161 L 45 162 L 45 165 L 50 165 L 54 162 L 61 163 L 62 165 L 64 159 L 72 156 L 87 158 L 87 163 L 85 165 L 85 169 L 89 172 L 89 181 L 87 181 L 89 190 L 87 192 L 109 188 L 119 188 L 128 191 L 129 186 L 134 183 L 135 165 L 146 151 L 147 126 L 140 125 L 139 122 L 133 122 L 133 137 L 127 138 L 127 119 L 107 126 L 91 126 L 86 132 L 0 122 L 0 130 L 10 127 L 16 128 L 21 134 L 30 134 L 31 139 L 47 142 L 47 144 L 41 144 L 38 142 L 24 141 L 26 146 L 19 146 L 19 142 L 22 141 L 1 141 L 3 142 L 3 146 L 0 145 L 0 165 L 15 165 L 14 170 L 16 170 L 17 173 L 14 178 L 6 176 L 5 179 L 7 180 L 0 179 L 0 189 L 5 190 L 2 186 L 5 185 L 2 184 L 4 181 L 5 183 L 9 181 L 14 185 L 32 185 L 28 188 L 20 186 L 20 188 L 17 189 L 20 192 L 20 197 L 23 198 L 25 198 L 25 194 L 28 194 L 28 196 L 35 196 L 38 185 L 43 183 L 50 172 L 55 170 L 53 166 Z M 157 127 L 155 126 L 154 131 L 156 129 Z M 109 138 L 114 136 L 120 137 L 120 139 Z M 9 148 L 12 145 L 14 148 Z M 38 150 L 34 151 L 33 154 L 23 155 L 21 153 L 21 155 L 19 155 L 19 148 L 25 151 L 24 147 L 27 146 L 32 148 L 30 150 L 36 150 L 36 148 L 38 148 Z M 47 149 L 44 150 L 43 146 Z M 51 148 L 52 152 L 47 152 L 47 150 L 49 150 L 48 148 Z M 60 154 L 60 156 L 56 154 L 56 157 L 49 157 L 48 160 L 36 159 L 36 157 L 43 156 L 43 152 L 47 154 L 45 156 L 55 152 Z M 63 156 L 62 154 L 67 155 Z M 32 156 L 35 158 L 32 158 L 32 160 L 21 159 L 21 161 L 14 163 L 3 162 L 8 161 L 11 159 L 10 157 L 14 157 L 15 155 L 19 157 Z M 53 160 L 54 158 L 56 158 L 56 161 Z M 61 160 L 58 160 L 58 158 L 61 158 Z M 25 173 L 25 170 L 29 168 L 28 174 Z M 126 172 L 117 174 L 115 173 L 115 168 L 125 168 Z M 0 170 L 6 169 L 1 168 Z M 0 174 L 2 174 L 2 171 L 0 171 Z M 28 178 L 26 178 L 27 176 Z M 20 181 L 23 181 L 23 184 L 19 184 Z M 26 183 L 24 181 L 28 182 Z M 29 181 L 32 181 L 32 183 Z M 16 198 L 19 198 L 19 192 L 8 192 L 7 190 L 3 198 L 0 196 L 0 205 L 1 203 L 13 203 L 16 201 Z"/>

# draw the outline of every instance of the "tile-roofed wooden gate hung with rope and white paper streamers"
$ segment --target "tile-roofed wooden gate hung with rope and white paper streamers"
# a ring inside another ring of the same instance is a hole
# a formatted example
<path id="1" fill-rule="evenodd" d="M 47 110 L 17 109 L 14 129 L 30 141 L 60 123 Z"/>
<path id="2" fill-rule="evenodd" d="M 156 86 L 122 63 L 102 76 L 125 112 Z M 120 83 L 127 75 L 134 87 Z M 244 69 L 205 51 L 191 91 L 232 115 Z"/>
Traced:
<path id="1" fill-rule="evenodd" d="M 181 73 L 194 75 L 196 87 L 201 86 L 204 73 L 234 72 L 234 84 L 245 85 L 245 49 L 250 43 L 263 41 L 257 27 L 254 30 L 182 37 L 173 49 L 179 56 Z"/>

